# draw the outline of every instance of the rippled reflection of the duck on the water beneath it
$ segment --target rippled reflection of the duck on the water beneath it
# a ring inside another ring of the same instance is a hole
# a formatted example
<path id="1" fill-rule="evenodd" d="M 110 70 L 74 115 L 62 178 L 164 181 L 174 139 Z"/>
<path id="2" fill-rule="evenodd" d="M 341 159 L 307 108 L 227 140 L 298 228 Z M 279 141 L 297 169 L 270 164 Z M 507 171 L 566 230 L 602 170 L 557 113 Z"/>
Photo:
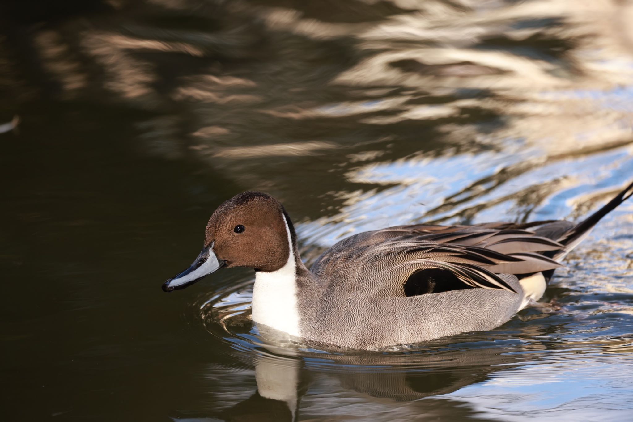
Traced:
<path id="1" fill-rule="evenodd" d="M 211 419 L 180 415 L 175 420 L 392 421 L 475 417 L 477 411 L 470 404 L 434 396 L 483 382 L 495 371 L 529 360 L 527 352 L 544 348 L 540 344 L 522 344 L 477 349 L 477 345 L 470 344 L 463 349 L 420 354 L 329 354 L 325 355 L 328 364 L 315 359 L 315 354 L 306 357 L 304 352 L 292 349 L 286 349 L 284 356 L 263 352 L 254 360 L 254 371 L 216 365 L 210 368 L 208 379 L 213 380 L 213 385 L 207 387 L 216 396 L 213 403 L 207 404 L 213 409 Z M 275 352 L 279 349 L 275 348 Z M 244 386 L 252 385 L 253 375 L 256 389 L 246 393 Z M 235 395 L 230 395 L 232 387 L 226 381 L 217 382 L 220 378 L 230 378 Z M 227 399 L 229 395 L 231 399 Z"/>

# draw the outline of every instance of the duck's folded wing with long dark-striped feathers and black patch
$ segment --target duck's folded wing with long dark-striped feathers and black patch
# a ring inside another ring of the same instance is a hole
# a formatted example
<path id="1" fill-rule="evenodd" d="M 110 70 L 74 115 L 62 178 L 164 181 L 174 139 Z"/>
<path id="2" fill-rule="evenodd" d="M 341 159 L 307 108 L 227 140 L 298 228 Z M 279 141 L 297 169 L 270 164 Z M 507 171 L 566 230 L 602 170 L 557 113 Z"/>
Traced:
<path id="1" fill-rule="evenodd" d="M 415 295 L 481 287 L 515 292 L 500 274 L 557 268 L 541 253 L 563 245 L 512 223 L 399 226 L 335 244 L 313 271 L 329 289 Z"/>

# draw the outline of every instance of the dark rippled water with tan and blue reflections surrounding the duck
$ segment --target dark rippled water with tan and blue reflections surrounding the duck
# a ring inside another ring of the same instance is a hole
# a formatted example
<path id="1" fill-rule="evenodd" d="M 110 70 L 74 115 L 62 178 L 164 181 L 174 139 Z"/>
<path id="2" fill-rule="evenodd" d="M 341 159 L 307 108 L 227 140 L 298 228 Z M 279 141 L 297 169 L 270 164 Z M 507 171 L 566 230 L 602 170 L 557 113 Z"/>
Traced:
<path id="1" fill-rule="evenodd" d="M 0 418 L 633 420 L 631 201 L 546 306 L 428 344 L 265 345 L 246 270 L 160 289 L 248 189 L 308 261 L 388 225 L 579 219 L 633 178 L 632 20 L 626 0 L 3 2 Z"/>

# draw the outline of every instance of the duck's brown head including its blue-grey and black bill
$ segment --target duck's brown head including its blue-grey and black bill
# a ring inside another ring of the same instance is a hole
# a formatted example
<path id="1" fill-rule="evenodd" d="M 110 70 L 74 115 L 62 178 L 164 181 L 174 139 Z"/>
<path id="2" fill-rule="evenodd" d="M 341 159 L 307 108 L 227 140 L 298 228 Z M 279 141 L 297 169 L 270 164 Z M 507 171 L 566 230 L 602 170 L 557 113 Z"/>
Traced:
<path id="1" fill-rule="evenodd" d="M 292 222 L 277 199 L 261 192 L 235 195 L 211 215 L 194 263 L 163 283 L 163 290 L 184 289 L 223 267 L 277 271 L 293 253 L 294 242 Z"/>

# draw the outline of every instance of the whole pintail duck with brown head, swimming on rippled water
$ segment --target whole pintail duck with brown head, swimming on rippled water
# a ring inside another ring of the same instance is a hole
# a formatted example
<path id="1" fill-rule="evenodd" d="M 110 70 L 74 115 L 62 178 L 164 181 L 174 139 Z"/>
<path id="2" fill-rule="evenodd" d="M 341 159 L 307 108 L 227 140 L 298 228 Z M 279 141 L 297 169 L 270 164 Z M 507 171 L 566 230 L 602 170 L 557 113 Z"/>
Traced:
<path id="1" fill-rule="evenodd" d="M 222 268 L 255 271 L 251 318 L 303 342 L 379 350 L 492 330 L 541 299 L 561 260 L 633 195 L 630 183 L 580 223 L 415 224 L 357 233 L 308 269 L 281 202 L 243 192 L 211 215 L 184 289 Z"/>

